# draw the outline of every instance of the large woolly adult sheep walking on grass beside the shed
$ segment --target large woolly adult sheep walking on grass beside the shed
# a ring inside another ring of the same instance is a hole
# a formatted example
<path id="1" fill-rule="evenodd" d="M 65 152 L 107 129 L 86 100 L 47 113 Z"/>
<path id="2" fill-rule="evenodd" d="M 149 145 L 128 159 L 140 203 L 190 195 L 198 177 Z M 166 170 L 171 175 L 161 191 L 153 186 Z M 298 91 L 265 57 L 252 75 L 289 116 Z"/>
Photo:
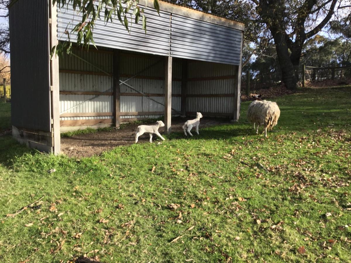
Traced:
<path id="1" fill-rule="evenodd" d="M 271 130 L 277 125 L 279 116 L 280 109 L 277 103 L 272 101 L 255 100 L 247 109 L 247 119 L 253 123 L 253 128 L 255 128 L 255 123 L 257 124 L 256 133 L 258 134 L 258 127 L 263 125 L 265 137 L 267 137 L 267 129 Z"/>

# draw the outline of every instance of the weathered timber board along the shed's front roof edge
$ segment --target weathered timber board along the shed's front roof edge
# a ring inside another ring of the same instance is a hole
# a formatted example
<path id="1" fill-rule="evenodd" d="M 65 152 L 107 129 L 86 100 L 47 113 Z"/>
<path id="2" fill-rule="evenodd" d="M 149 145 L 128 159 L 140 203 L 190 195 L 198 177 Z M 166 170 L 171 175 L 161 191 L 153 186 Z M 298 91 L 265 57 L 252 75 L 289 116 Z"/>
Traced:
<path id="1" fill-rule="evenodd" d="M 140 0 L 139 4 L 143 5 L 143 6 L 154 8 L 152 0 Z M 213 14 L 206 13 L 203 11 L 199 11 L 199 10 L 193 9 L 191 7 L 172 4 L 170 2 L 162 1 L 162 0 L 159 1 L 159 5 L 160 5 L 160 10 L 165 11 L 165 12 L 169 12 L 169 13 L 177 14 L 177 15 L 182 15 L 182 16 L 185 16 L 188 18 L 193 18 L 196 20 L 212 23 L 215 25 L 238 29 L 240 31 L 245 31 L 245 24 L 238 22 L 238 21 L 235 21 L 235 20 L 223 18 L 221 16 L 213 15 Z"/>

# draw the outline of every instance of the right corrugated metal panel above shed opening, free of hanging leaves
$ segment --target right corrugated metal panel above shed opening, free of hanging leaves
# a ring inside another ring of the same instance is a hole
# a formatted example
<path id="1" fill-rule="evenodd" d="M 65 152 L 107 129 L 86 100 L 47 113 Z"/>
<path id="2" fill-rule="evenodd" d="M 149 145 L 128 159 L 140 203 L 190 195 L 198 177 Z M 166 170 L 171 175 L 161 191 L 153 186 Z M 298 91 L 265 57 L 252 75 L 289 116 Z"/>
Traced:
<path id="1" fill-rule="evenodd" d="M 241 31 L 172 14 L 171 56 L 239 65 Z"/>

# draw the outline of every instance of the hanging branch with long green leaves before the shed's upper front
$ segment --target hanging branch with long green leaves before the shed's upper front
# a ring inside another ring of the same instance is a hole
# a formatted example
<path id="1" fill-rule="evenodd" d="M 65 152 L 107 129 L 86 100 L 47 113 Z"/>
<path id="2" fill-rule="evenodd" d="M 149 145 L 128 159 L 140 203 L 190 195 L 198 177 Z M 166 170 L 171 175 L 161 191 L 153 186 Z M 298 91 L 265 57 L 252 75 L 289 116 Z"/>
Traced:
<path id="1" fill-rule="evenodd" d="M 65 34 L 67 40 L 59 42 L 51 50 L 51 56 L 54 54 L 61 55 L 64 53 L 70 54 L 72 51 L 71 35 L 77 34 L 77 45 L 88 48 L 93 45 L 95 48 L 93 32 L 95 22 L 101 19 L 101 12 L 104 14 L 105 23 L 113 23 L 116 16 L 120 23 L 125 27 L 128 32 L 131 32 L 132 15 L 134 15 L 134 23 L 138 24 L 140 18 L 142 19 L 143 29 L 146 34 L 146 16 L 145 7 L 139 5 L 139 0 L 53 0 L 52 4 L 57 4 L 58 8 L 64 9 L 68 5 L 72 5 L 73 10 L 81 15 L 81 21 L 74 25 L 71 32 L 66 27 Z M 158 0 L 153 1 L 154 8 L 159 14 L 160 6 Z M 131 22 L 128 21 L 131 19 Z M 131 24 L 130 24 L 131 23 Z"/>

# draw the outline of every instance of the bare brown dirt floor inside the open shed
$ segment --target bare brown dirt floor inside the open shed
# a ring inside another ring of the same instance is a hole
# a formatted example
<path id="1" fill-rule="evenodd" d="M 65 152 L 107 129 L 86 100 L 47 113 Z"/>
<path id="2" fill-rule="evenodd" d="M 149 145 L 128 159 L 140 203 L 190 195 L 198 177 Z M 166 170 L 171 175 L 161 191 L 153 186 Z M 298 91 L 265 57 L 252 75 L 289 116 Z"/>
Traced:
<path id="1" fill-rule="evenodd" d="M 172 118 L 172 132 L 183 132 L 182 126 L 185 121 L 191 118 Z M 230 123 L 230 119 L 201 118 L 200 126 L 212 126 Z M 111 150 L 114 147 L 134 143 L 135 129 L 140 124 L 128 124 L 121 129 L 111 129 L 109 131 L 97 131 L 96 133 L 81 134 L 71 137 L 61 137 L 61 151 L 70 157 L 90 157 L 99 155 L 103 151 Z M 160 134 L 164 134 L 164 128 L 159 129 Z M 195 127 L 192 129 L 195 133 Z M 160 142 L 158 136 L 154 135 L 152 141 Z M 149 135 L 144 134 L 139 137 L 138 143 L 148 143 Z"/>

